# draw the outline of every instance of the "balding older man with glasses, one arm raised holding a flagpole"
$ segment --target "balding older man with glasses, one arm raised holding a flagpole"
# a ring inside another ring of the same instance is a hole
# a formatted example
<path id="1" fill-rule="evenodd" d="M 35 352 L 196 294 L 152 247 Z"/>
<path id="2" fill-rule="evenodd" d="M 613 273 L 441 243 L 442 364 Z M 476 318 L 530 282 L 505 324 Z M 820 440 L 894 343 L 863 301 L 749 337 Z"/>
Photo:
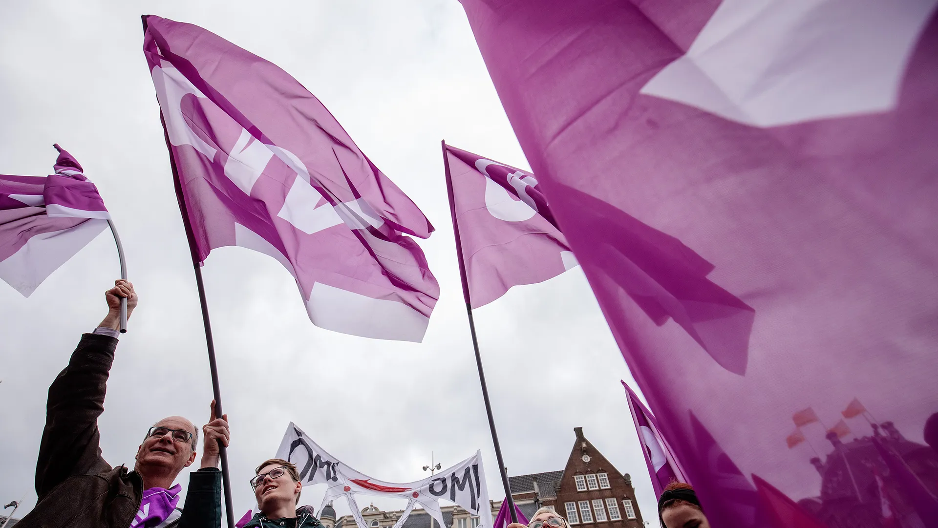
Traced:
<path id="1" fill-rule="evenodd" d="M 128 317 L 137 294 L 126 280 L 105 293 L 108 315 L 84 334 L 68 367 L 49 387 L 46 426 L 36 466 L 38 504 L 17 525 L 23 528 L 212 528 L 221 524 L 219 443 L 228 445 L 227 416 L 212 415 L 204 431 L 202 469 L 189 475 L 183 510 L 174 480 L 195 461 L 199 430 L 182 416 L 163 418 L 146 431 L 133 471 L 101 457 L 98 416 L 111 370 L 120 316 Z"/>

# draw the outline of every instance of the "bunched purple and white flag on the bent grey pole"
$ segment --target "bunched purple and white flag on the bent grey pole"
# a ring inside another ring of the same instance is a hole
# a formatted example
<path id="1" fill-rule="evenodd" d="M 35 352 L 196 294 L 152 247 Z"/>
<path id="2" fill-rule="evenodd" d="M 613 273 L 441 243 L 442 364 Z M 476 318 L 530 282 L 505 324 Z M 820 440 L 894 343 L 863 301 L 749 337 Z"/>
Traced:
<path id="1" fill-rule="evenodd" d="M 27 297 L 111 218 L 82 166 L 54 146 L 55 173 L 0 174 L 0 279 Z"/>

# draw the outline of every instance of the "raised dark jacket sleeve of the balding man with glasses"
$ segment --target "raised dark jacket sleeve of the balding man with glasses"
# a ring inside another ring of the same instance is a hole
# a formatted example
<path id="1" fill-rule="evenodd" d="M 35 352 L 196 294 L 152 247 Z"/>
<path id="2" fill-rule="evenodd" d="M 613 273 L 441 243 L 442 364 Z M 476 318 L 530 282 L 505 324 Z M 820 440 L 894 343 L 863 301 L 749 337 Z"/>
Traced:
<path id="1" fill-rule="evenodd" d="M 117 339 L 84 334 L 68 367 L 49 387 L 46 426 L 36 463 L 38 499 L 72 475 L 95 475 L 111 469 L 101 457 L 98 416 Z"/>

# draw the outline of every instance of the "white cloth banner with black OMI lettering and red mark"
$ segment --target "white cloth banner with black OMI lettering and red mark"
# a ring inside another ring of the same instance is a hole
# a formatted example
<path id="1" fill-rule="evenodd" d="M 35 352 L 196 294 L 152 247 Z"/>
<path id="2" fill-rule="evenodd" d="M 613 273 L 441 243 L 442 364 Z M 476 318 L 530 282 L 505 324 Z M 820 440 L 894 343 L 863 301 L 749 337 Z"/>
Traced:
<path id="1" fill-rule="evenodd" d="M 397 484 L 371 478 L 340 462 L 313 442 L 293 422 L 290 422 L 286 434 L 283 435 L 283 441 L 280 442 L 280 448 L 277 450 L 277 458 L 289 460 L 296 465 L 300 481 L 304 486 L 325 484 L 328 487 L 319 511 L 323 510 L 328 501 L 344 496 L 349 507 L 352 508 L 358 528 L 368 528 L 368 526 L 361 517 L 361 509 L 356 504 L 356 493 L 407 499 L 407 507 L 394 528 L 401 528 L 415 505 L 423 507 L 441 526 L 446 526 L 443 514 L 440 512 L 440 499 L 456 503 L 472 515 L 478 516 L 478 528 L 492 528 L 489 490 L 485 485 L 482 456 L 478 451 L 472 457 L 430 478 Z"/>

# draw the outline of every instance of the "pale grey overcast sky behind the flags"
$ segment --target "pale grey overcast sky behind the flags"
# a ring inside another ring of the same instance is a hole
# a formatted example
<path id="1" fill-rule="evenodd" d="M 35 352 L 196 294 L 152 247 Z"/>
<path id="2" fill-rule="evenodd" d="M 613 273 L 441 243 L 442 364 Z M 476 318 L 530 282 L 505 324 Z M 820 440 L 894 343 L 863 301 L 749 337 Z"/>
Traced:
<path id="1" fill-rule="evenodd" d="M 491 496 L 503 496 L 439 142 L 528 165 L 457 0 L 31 1 L 4 2 L 3 10 L 0 173 L 49 173 L 52 143 L 68 149 L 113 213 L 141 297 L 99 420 L 106 460 L 132 465 L 150 424 L 185 415 L 201 425 L 211 400 L 189 249 L 141 51 L 140 15 L 158 14 L 201 25 L 293 74 L 437 228 L 420 242 L 442 287 L 420 344 L 317 328 L 276 261 L 247 249 L 213 251 L 204 278 L 238 517 L 253 506 L 253 467 L 274 455 L 291 420 L 340 460 L 390 481 L 426 475 L 431 451 L 447 465 L 480 448 Z M 80 334 L 105 314 L 102 292 L 117 274 L 105 233 L 28 299 L 0 283 L 0 501 L 24 499 L 17 517 L 36 504 L 47 387 Z M 562 469 L 580 426 L 632 475 L 644 517 L 656 524 L 619 385 L 631 377 L 582 272 L 515 288 L 477 310 L 477 328 L 509 472 Z M 318 507 L 322 492 L 307 491 L 304 502 Z"/>

